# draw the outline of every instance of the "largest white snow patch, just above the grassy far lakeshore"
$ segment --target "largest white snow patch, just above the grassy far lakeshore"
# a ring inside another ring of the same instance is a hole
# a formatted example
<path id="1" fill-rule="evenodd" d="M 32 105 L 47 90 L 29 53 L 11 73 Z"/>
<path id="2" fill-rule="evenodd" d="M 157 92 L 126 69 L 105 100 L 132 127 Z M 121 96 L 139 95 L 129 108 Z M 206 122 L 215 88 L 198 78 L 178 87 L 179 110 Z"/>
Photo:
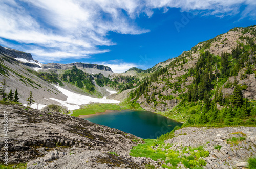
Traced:
<path id="1" fill-rule="evenodd" d="M 67 100 L 62 101 L 55 98 L 49 98 L 49 99 L 59 102 L 62 106 L 66 106 L 68 110 L 79 109 L 82 104 L 89 104 L 91 102 L 94 102 L 94 103 L 119 103 L 120 102 L 113 99 L 106 99 L 106 97 L 92 98 L 90 96 L 73 93 L 69 90 L 63 89 L 56 85 L 53 85 L 53 86 L 56 87 L 60 92 L 62 92 L 62 94 L 66 95 Z"/>

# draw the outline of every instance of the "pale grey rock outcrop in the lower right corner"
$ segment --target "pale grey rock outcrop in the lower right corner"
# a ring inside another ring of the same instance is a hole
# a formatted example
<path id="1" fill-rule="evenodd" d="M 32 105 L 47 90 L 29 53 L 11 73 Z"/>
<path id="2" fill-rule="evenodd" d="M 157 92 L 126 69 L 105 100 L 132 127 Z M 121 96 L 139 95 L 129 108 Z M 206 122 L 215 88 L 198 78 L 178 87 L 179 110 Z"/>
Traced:
<path id="1" fill-rule="evenodd" d="M 209 152 L 209 156 L 203 158 L 207 169 L 245 167 L 248 158 L 256 154 L 256 127 L 187 127 L 176 130 L 174 135 L 176 137 L 164 141 L 173 144 L 170 149 L 181 151 L 184 147 L 204 146 Z"/>

